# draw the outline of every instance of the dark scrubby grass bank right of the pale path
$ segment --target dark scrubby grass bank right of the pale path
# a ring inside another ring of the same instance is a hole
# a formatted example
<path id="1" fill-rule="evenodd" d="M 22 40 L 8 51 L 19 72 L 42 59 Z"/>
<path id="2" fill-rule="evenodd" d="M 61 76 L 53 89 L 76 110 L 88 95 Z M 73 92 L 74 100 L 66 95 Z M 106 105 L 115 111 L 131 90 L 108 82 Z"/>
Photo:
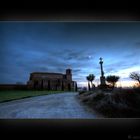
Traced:
<path id="1" fill-rule="evenodd" d="M 80 92 L 79 98 L 107 118 L 140 118 L 140 89 Z"/>

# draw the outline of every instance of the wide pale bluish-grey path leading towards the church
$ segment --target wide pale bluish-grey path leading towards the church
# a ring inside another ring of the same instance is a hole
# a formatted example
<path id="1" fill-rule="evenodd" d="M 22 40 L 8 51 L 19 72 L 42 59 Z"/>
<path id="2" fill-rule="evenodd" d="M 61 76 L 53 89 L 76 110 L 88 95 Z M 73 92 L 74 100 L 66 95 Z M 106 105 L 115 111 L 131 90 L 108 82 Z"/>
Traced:
<path id="1" fill-rule="evenodd" d="M 0 118 L 99 118 L 96 112 L 80 103 L 76 92 L 44 95 L 0 103 Z"/>

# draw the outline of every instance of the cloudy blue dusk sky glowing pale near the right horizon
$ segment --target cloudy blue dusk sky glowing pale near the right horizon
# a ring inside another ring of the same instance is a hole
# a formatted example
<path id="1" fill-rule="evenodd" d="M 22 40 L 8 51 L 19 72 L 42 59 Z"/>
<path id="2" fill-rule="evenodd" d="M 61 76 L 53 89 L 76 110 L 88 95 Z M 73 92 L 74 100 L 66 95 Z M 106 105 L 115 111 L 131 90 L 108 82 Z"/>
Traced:
<path id="1" fill-rule="evenodd" d="M 140 22 L 0 22 L 0 84 L 67 68 L 79 86 L 89 74 L 99 84 L 100 57 L 105 76 L 130 85 L 130 72 L 140 72 Z"/>

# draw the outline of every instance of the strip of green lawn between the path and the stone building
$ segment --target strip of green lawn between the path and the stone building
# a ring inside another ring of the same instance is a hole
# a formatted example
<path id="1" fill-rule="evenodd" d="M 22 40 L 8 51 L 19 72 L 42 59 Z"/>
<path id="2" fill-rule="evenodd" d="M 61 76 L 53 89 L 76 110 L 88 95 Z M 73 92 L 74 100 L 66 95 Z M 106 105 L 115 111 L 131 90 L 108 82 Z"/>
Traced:
<path id="1" fill-rule="evenodd" d="M 35 90 L 6 90 L 0 91 L 0 102 L 7 102 L 16 99 L 29 98 L 33 96 L 62 93 L 64 91 L 35 91 Z"/>

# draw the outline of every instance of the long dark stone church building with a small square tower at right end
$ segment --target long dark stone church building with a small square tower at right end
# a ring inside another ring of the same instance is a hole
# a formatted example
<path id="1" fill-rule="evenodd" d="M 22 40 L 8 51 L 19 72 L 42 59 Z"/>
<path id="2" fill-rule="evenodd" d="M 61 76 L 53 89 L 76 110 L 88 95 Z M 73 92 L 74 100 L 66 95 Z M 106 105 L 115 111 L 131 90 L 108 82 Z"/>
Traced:
<path id="1" fill-rule="evenodd" d="M 33 72 L 27 82 L 28 89 L 46 90 L 76 90 L 77 83 L 72 81 L 72 70 L 66 69 L 66 74 Z"/>

